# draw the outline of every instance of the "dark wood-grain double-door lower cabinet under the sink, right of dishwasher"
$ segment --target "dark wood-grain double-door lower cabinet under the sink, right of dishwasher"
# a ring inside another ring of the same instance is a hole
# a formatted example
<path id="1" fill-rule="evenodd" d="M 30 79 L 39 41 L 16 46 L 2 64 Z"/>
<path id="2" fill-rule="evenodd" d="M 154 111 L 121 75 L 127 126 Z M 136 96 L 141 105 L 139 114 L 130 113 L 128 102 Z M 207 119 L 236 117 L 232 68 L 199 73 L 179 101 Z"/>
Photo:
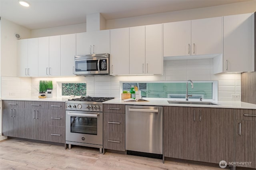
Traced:
<path id="1" fill-rule="evenodd" d="M 201 162 L 234 160 L 233 109 L 164 107 L 164 156 Z"/>

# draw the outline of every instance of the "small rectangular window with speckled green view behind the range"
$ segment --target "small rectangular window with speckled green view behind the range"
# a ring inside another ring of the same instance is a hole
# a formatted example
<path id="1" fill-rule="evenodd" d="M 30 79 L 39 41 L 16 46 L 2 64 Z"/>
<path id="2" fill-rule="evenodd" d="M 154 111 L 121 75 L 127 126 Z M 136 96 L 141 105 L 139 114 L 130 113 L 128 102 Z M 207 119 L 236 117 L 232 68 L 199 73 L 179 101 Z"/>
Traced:
<path id="1" fill-rule="evenodd" d="M 62 83 L 62 96 L 86 96 L 86 83 Z"/>

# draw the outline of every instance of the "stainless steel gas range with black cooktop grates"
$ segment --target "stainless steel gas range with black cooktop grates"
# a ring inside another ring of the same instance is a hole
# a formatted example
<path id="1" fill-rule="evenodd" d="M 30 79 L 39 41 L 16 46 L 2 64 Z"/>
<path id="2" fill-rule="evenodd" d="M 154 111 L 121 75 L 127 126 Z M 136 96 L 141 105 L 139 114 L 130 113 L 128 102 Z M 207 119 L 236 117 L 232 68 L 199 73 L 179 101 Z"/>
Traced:
<path id="1" fill-rule="evenodd" d="M 113 97 L 80 97 L 66 101 L 66 144 L 100 148 L 103 144 L 102 102 Z"/>

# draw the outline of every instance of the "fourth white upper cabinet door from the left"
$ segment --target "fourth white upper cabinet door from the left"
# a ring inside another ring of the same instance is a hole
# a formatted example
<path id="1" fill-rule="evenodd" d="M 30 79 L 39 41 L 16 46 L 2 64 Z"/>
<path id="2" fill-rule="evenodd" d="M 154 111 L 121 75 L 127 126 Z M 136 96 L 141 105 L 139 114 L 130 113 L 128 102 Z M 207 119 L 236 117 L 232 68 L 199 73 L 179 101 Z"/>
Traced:
<path id="1" fill-rule="evenodd" d="M 49 37 L 49 76 L 60 76 L 60 36 Z"/>

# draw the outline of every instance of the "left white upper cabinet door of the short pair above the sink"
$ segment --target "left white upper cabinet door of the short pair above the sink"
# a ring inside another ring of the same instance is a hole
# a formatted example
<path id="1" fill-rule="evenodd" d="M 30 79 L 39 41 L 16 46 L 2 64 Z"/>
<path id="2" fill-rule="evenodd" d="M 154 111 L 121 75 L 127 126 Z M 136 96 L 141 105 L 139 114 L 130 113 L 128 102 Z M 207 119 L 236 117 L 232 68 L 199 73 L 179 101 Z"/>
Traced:
<path id="1" fill-rule="evenodd" d="M 164 23 L 164 57 L 191 54 L 191 20 Z"/>

